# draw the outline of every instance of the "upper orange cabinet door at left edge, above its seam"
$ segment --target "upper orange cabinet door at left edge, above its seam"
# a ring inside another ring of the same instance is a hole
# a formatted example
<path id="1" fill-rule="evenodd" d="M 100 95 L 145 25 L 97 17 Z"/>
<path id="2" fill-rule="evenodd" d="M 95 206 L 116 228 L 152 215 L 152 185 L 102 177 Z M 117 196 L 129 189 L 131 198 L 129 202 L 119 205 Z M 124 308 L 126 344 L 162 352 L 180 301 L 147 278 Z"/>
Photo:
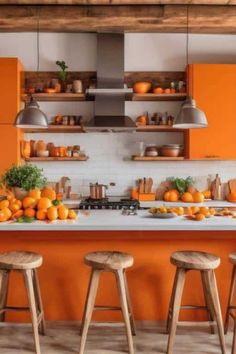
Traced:
<path id="1" fill-rule="evenodd" d="M 0 124 L 13 124 L 21 108 L 22 74 L 17 58 L 0 58 Z"/>

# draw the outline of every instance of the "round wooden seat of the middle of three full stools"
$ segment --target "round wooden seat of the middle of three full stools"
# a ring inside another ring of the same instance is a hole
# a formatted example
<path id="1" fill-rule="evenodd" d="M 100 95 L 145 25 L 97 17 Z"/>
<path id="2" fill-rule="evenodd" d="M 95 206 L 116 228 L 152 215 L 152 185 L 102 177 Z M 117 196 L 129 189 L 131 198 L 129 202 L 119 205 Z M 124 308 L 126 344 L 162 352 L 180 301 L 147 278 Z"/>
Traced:
<path id="1" fill-rule="evenodd" d="M 134 259 L 128 253 L 101 251 L 88 253 L 84 262 L 96 269 L 117 270 L 131 267 Z"/>

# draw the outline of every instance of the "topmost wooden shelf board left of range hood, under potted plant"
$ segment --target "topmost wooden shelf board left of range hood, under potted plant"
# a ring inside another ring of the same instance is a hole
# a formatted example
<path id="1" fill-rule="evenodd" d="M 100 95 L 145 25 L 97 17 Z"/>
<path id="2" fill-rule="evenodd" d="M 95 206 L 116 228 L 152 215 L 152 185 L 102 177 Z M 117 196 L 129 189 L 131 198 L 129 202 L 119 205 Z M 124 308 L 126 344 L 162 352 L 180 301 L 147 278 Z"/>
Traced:
<path id="1" fill-rule="evenodd" d="M 85 101 L 84 93 L 33 93 L 32 95 L 24 94 L 23 100 L 28 101 L 32 96 L 36 101 L 58 102 L 58 101 Z"/>

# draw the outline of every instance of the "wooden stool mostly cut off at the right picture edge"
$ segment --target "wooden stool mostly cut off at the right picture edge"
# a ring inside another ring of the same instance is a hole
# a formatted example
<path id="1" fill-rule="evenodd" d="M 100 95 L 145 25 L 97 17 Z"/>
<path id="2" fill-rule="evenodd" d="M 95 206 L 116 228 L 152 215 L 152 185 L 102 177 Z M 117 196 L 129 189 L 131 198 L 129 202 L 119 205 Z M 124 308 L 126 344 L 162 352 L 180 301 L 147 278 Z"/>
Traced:
<path id="1" fill-rule="evenodd" d="M 226 318 L 225 318 L 225 334 L 227 334 L 228 332 L 229 318 L 232 317 L 234 319 L 232 354 L 236 354 L 236 316 L 234 313 L 232 313 L 232 311 L 235 311 L 236 309 L 236 304 L 233 304 L 233 300 L 235 298 L 235 291 L 236 291 L 236 253 L 231 253 L 229 255 L 229 260 L 231 263 L 233 263 L 233 270 L 232 270 L 229 298 L 228 298 Z"/>

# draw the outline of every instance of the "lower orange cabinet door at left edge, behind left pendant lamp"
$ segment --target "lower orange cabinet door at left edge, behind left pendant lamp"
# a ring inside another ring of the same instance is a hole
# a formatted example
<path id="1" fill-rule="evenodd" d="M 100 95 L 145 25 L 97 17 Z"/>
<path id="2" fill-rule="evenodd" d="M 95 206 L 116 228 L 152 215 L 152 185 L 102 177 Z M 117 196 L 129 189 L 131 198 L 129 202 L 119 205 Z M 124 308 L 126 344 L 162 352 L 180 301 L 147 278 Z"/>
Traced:
<path id="1" fill-rule="evenodd" d="M 0 125 L 0 176 L 12 164 L 20 163 L 21 134 L 13 125 Z"/>

